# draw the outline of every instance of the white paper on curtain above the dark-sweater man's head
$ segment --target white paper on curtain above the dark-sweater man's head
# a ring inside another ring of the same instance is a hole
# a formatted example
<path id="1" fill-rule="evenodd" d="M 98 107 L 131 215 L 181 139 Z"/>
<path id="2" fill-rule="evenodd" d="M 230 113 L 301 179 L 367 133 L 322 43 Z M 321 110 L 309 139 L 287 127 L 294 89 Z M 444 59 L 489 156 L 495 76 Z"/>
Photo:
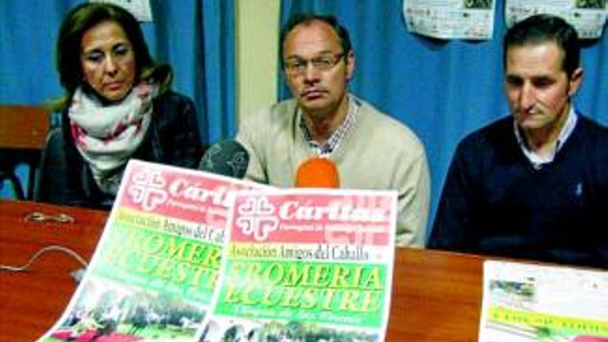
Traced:
<path id="1" fill-rule="evenodd" d="M 599 38 L 606 22 L 605 0 L 506 0 L 504 18 L 511 27 L 531 15 L 547 13 L 568 21 L 582 39 Z"/>

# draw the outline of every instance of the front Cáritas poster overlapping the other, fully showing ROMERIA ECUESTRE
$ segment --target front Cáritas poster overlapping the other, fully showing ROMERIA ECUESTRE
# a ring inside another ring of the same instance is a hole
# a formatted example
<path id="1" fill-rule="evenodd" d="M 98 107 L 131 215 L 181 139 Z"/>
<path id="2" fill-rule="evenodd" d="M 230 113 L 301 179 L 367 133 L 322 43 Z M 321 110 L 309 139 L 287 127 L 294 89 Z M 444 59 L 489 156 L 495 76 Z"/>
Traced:
<path id="1" fill-rule="evenodd" d="M 200 341 L 383 341 L 394 191 L 238 191 Z"/>

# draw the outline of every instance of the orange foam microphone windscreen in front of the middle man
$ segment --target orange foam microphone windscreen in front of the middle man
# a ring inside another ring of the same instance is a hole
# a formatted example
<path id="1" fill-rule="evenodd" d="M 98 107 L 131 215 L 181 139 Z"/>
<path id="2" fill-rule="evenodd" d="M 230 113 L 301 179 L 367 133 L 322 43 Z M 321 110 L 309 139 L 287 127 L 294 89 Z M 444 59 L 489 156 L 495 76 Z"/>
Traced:
<path id="1" fill-rule="evenodd" d="M 328 158 L 314 157 L 305 160 L 296 173 L 298 188 L 339 188 L 338 169 Z"/>

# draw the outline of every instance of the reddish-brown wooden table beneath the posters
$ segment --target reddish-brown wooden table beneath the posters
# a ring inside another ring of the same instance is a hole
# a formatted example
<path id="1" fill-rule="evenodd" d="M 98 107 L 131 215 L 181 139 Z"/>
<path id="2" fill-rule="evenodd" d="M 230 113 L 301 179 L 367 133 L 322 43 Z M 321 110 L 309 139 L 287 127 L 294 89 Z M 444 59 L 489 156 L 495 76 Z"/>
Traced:
<path id="1" fill-rule="evenodd" d="M 72 223 L 26 222 L 32 211 Z M 21 265 L 46 245 L 91 258 L 107 213 L 32 202 L 0 201 L 0 264 Z M 397 249 L 387 341 L 477 341 L 484 258 Z M 0 271 L 0 341 L 35 341 L 59 318 L 76 283 L 77 261 L 57 251 L 27 272 Z"/>

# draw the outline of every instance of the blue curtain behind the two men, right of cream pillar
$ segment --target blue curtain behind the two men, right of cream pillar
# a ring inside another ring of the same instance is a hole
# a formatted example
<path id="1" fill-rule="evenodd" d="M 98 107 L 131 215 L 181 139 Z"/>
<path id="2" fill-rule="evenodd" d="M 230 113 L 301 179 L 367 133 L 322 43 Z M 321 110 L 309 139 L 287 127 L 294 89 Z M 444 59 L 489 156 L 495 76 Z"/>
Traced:
<path id="1" fill-rule="evenodd" d="M 403 0 L 283 0 L 281 23 L 296 12 L 316 12 L 335 15 L 348 28 L 357 57 L 352 92 L 409 126 L 426 146 L 431 225 L 457 142 L 508 113 L 502 88 L 504 0 L 497 0 L 494 37 L 488 41 L 412 34 L 402 8 Z M 607 38 L 585 45 L 585 79 L 574 102 L 582 113 L 606 124 Z M 279 82 L 278 97 L 289 97 L 283 79 Z"/>

